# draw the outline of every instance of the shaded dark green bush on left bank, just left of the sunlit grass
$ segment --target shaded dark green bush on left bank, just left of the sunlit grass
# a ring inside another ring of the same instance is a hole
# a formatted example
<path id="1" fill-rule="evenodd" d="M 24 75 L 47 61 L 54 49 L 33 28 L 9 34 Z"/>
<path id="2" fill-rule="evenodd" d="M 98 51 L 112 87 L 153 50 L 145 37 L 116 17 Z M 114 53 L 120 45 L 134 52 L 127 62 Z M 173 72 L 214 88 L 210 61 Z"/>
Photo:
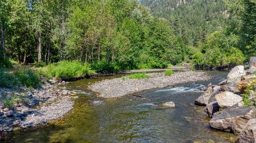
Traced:
<path id="1" fill-rule="evenodd" d="M 27 88 L 38 88 L 41 85 L 39 76 L 30 69 L 19 70 L 15 73 L 20 83 L 25 85 Z"/>

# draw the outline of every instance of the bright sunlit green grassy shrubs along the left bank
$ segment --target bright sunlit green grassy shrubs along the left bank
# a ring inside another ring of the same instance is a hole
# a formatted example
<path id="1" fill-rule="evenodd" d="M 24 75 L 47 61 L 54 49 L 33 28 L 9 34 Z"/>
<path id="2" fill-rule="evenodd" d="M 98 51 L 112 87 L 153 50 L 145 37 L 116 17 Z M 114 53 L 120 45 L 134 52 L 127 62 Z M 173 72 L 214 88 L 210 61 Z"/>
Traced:
<path id="1" fill-rule="evenodd" d="M 91 69 L 89 64 L 82 64 L 78 61 L 61 61 L 39 68 L 37 71 L 39 75 L 48 78 L 70 78 L 95 74 L 95 71 Z"/>

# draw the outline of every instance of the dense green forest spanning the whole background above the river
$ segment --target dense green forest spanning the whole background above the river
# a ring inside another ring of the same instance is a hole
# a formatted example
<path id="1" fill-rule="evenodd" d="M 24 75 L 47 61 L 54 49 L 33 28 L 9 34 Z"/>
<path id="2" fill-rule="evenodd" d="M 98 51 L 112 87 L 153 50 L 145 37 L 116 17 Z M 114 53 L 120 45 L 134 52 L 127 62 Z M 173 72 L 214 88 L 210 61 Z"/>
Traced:
<path id="1" fill-rule="evenodd" d="M 96 72 L 190 63 L 222 69 L 256 55 L 253 0 L 1 0 L 0 66 L 86 63 Z"/>

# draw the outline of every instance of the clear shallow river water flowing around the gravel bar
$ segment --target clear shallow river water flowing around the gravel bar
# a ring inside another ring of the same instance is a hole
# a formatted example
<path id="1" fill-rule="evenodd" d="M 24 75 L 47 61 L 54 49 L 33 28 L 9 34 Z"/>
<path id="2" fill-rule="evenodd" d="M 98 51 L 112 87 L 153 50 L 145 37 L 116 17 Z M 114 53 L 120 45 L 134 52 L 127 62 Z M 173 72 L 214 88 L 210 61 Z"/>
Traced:
<path id="1" fill-rule="evenodd" d="M 69 83 L 79 99 L 65 118 L 47 126 L 14 130 L 3 142 L 233 142 L 232 134 L 212 130 L 204 107 L 194 105 L 202 94 L 197 88 L 218 83 L 227 73 L 210 72 L 214 79 L 165 89 L 137 93 L 115 99 L 97 98 L 86 90 L 92 82 Z M 119 75 L 116 75 L 119 76 Z M 175 108 L 162 103 L 173 101 Z"/>

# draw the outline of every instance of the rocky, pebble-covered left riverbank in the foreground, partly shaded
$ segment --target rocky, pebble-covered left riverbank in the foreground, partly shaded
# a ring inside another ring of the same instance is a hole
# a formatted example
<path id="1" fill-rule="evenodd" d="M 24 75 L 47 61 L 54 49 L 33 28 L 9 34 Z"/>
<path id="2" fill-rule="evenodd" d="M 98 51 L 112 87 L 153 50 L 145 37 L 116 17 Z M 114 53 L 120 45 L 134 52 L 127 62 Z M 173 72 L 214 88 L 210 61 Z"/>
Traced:
<path id="1" fill-rule="evenodd" d="M 73 108 L 74 91 L 53 80 L 40 89 L 0 88 L 0 137 L 13 127 L 34 127 L 63 117 Z"/>

